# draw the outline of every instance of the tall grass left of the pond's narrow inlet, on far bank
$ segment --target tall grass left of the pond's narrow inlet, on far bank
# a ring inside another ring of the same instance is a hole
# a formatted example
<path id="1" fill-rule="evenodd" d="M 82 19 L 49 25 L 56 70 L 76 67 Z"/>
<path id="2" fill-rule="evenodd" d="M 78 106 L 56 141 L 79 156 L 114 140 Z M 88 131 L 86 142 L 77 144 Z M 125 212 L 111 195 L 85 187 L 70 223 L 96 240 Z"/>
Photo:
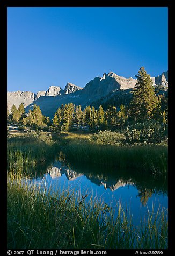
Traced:
<path id="1" fill-rule="evenodd" d="M 10 136 L 7 144 L 8 170 L 26 174 L 41 174 L 55 160 L 59 144 L 46 133 Z"/>

